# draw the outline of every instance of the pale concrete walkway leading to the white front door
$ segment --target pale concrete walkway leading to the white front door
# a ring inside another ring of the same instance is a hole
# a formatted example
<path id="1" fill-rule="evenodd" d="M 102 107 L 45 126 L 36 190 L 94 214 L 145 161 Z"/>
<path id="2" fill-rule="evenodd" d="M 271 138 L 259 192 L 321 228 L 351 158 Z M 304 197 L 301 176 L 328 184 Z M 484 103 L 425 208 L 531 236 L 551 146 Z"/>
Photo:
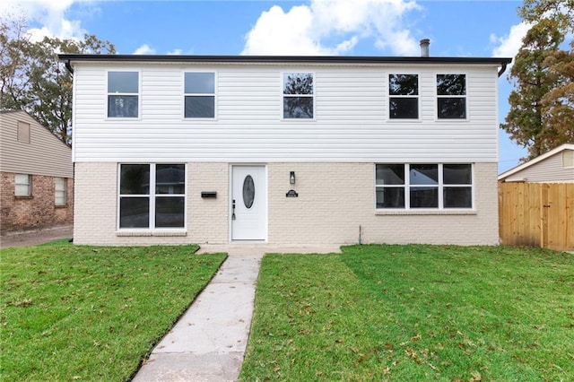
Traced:
<path id="1" fill-rule="evenodd" d="M 248 343 L 255 289 L 265 253 L 340 252 L 338 246 L 274 247 L 266 244 L 202 246 L 198 253 L 229 257 L 192 306 L 133 379 L 147 381 L 235 381 Z"/>

